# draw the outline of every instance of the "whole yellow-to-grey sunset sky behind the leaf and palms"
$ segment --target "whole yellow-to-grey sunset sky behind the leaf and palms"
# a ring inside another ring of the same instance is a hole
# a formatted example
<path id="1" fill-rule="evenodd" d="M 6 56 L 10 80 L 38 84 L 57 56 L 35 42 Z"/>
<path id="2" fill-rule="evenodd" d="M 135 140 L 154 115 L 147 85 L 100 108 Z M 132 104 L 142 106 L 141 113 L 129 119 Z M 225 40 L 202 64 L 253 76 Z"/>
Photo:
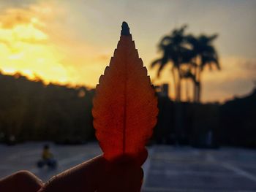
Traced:
<path id="1" fill-rule="evenodd" d="M 0 70 L 94 88 L 125 20 L 151 80 L 171 84 L 170 66 L 159 80 L 148 66 L 159 39 L 187 23 L 188 33 L 219 34 L 222 70 L 203 72 L 203 101 L 225 101 L 254 87 L 255 10 L 256 0 L 0 0 Z"/>

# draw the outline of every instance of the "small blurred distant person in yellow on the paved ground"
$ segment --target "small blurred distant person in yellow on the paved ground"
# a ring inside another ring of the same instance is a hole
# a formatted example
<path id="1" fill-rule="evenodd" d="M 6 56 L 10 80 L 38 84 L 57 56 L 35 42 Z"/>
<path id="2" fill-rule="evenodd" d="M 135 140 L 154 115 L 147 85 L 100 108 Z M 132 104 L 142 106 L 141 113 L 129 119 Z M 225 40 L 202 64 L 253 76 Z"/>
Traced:
<path id="1" fill-rule="evenodd" d="M 37 162 L 37 166 L 39 168 L 45 165 L 49 166 L 50 168 L 56 168 L 57 166 L 57 161 L 53 158 L 53 153 L 50 153 L 49 145 L 44 145 L 42 150 L 42 160 Z"/>

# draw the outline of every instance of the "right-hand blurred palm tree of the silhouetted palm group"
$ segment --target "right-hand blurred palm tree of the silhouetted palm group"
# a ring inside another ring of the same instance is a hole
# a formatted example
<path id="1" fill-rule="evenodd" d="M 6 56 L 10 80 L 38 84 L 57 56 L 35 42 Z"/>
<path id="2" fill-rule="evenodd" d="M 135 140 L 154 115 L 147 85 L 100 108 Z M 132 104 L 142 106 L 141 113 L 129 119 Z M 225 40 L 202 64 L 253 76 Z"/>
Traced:
<path id="1" fill-rule="evenodd" d="M 193 35 L 187 36 L 187 42 L 189 47 L 191 47 L 192 59 L 192 80 L 194 82 L 194 101 L 200 102 L 201 95 L 201 72 L 205 66 L 209 66 L 212 69 L 212 66 L 217 66 L 217 69 L 220 69 L 219 58 L 217 50 L 215 50 L 212 42 L 218 37 L 217 34 L 211 36 L 206 36 L 201 34 L 199 37 L 194 37 Z"/>

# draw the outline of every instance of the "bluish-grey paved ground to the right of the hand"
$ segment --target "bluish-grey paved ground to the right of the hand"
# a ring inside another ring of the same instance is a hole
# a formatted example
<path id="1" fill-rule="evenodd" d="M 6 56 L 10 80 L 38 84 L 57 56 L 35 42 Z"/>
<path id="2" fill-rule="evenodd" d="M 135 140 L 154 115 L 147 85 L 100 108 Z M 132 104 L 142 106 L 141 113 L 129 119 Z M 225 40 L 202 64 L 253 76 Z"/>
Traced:
<path id="1" fill-rule="evenodd" d="M 256 191 L 256 150 L 154 146 L 143 191 Z"/>

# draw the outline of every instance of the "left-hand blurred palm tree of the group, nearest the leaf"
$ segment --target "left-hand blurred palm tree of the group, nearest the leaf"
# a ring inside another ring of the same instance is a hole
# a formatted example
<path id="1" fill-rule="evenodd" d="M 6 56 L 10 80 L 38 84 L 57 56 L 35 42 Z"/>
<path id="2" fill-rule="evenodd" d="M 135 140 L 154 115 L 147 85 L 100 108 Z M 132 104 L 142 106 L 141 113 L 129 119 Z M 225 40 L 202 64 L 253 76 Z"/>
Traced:
<path id="1" fill-rule="evenodd" d="M 159 50 L 162 52 L 162 57 L 156 59 L 151 63 L 151 67 L 159 65 L 157 76 L 159 77 L 162 69 L 170 63 L 173 64 L 173 82 L 176 91 L 176 101 L 181 100 L 181 64 L 187 64 L 187 57 L 189 49 L 186 46 L 186 37 L 184 31 L 187 26 L 174 29 L 170 35 L 161 39 L 159 43 Z"/>

